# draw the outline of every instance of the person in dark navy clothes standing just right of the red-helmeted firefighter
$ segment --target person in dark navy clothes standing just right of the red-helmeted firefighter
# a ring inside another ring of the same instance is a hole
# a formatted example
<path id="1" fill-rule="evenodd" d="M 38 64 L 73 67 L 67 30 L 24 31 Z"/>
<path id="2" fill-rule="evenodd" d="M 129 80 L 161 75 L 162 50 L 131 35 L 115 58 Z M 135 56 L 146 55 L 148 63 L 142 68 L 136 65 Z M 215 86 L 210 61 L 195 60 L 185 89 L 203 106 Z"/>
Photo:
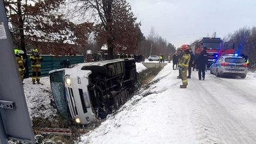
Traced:
<path id="1" fill-rule="evenodd" d="M 205 65 L 208 63 L 208 55 L 207 55 L 207 47 L 204 47 L 204 50 L 200 53 L 197 58 L 197 65 L 198 65 L 198 79 L 203 80 L 205 79 Z"/>

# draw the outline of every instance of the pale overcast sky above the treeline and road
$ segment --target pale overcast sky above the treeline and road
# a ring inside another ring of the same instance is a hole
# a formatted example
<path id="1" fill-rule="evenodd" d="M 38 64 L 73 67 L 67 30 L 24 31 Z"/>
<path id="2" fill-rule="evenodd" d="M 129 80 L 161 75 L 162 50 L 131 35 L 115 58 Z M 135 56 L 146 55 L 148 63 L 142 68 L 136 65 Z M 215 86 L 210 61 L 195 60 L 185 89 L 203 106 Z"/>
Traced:
<path id="1" fill-rule="evenodd" d="M 126 0 L 147 36 L 151 28 L 175 47 L 198 38 L 223 38 L 256 26 L 256 0 Z"/>

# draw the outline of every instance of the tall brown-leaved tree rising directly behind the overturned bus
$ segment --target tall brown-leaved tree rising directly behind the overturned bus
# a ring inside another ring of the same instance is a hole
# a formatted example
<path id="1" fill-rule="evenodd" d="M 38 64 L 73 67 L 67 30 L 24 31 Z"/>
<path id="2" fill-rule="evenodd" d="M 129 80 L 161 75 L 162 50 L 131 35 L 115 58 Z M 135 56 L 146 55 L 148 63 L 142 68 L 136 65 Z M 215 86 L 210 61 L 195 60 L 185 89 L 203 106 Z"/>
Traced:
<path id="1" fill-rule="evenodd" d="M 100 19 L 101 23 L 95 25 L 95 38 L 99 43 L 107 43 L 107 59 L 113 59 L 113 51 L 135 51 L 139 26 L 125 0 L 73 0 L 70 3 L 76 4 L 71 14 L 77 16 L 79 12 L 81 16 L 83 11 L 82 16 L 90 13 Z"/>

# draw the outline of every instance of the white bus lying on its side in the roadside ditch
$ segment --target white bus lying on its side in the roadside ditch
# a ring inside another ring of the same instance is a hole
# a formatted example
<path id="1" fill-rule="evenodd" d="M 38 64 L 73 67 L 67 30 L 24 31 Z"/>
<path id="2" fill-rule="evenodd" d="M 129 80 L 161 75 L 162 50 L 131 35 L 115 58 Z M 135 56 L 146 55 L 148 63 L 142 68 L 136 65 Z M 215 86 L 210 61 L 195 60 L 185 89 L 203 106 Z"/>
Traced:
<path id="1" fill-rule="evenodd" d="M 49 72 L 56 108 L 63 118 L 86 125 L 118 109 L 137 89 L 133 58 L 73 65 Z"/>

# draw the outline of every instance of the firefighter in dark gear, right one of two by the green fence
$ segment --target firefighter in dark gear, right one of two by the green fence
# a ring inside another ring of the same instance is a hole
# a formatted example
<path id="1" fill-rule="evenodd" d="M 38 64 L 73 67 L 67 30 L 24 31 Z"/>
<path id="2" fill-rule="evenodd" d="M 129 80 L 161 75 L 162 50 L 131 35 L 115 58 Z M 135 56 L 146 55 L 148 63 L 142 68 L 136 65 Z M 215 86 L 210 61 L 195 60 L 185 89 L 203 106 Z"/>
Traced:
<path id="1" fill-rule="evenodd" d="M 42 57 L 38 53 L 37 48 L 33 48 L 32 55 L 30 56 L 31 68 L 32 68 L 32 82 L 35 84 L 35 80 L 37 80 L 37 84 L 40 84 L 40 76 L 41 76 L 41 62 Z"/>

